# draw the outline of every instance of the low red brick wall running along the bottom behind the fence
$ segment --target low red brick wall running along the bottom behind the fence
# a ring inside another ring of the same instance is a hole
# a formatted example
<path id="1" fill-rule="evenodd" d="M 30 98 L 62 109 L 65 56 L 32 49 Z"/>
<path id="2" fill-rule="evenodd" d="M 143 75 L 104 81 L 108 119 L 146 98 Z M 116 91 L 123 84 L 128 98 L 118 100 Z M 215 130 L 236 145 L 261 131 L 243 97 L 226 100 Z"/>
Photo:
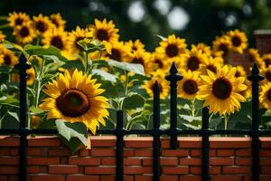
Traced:
<path id="1" fill-rule="evenodd" d="M 92 137 L 92 149 L 72 156 L 56 137 L 29 138 L 30 181 L 115 179 L 115 137 Z M 19 138 L 0 137 L 0 181 L 17 181 Z M 152 138 L 125 138 L 125 180 L 152 180 Z M 211 181 L 250 181 L 250 138 L 210 138 Z M 179 148 L 162 139 L 162 180 L 201 180 L 201 138 L 179 138 Z M 261 181 L 271 180 L 271 138 L 261 138 Z"/>

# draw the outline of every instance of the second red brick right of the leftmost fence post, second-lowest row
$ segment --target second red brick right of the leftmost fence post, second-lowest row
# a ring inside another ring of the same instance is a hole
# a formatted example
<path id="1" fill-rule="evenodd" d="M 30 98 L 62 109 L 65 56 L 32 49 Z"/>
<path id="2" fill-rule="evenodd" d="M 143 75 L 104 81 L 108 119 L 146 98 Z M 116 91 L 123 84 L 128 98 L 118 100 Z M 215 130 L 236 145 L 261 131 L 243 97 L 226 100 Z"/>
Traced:
<path id="1" fill-rule="evenodd" d="M 77 174 L 79 167 L 73 165 L 50 165 L 48 169 L 49 174 Z"/>

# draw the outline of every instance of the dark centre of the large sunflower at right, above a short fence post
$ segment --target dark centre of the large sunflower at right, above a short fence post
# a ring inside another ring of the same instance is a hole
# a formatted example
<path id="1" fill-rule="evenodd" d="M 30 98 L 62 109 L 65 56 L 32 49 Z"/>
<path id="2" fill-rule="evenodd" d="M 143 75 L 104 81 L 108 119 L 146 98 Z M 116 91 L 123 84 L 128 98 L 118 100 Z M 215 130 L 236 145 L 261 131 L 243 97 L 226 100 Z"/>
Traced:
<path id="1" fill-rule="evenodd" d="M 224 78 L 219 78 L 212 83 L 212 94 L 220 100 L 228 99 L 231 94 L 231 90 L 231 83 Z"/>

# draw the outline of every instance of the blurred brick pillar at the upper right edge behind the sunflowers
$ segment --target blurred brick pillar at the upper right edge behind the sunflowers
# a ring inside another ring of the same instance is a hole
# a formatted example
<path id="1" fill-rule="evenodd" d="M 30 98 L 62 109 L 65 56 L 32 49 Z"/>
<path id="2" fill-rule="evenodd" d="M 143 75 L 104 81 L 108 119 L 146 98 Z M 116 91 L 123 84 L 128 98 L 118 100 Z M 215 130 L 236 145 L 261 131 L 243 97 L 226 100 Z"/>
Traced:
<path id="1" fill-rule="evenodd" d="M 258 52 L 263 55 L 271 52 L 271 30 L 254 31 L 256 47 Z"/>

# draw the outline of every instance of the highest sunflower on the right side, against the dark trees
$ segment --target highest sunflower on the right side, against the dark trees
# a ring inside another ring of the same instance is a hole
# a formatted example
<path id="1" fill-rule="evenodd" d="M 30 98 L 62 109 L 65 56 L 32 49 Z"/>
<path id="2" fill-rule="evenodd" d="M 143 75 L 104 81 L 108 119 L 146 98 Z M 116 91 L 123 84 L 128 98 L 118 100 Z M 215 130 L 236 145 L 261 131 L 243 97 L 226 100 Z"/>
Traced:
<path id="1" fill-rule="evenodd" d="M 248 47 L 248 38 L 245 33 L 238 30 L 229 31 L 227 33 L 231 41 L 231 50 L 238 53 L 243 53 Z"/>

